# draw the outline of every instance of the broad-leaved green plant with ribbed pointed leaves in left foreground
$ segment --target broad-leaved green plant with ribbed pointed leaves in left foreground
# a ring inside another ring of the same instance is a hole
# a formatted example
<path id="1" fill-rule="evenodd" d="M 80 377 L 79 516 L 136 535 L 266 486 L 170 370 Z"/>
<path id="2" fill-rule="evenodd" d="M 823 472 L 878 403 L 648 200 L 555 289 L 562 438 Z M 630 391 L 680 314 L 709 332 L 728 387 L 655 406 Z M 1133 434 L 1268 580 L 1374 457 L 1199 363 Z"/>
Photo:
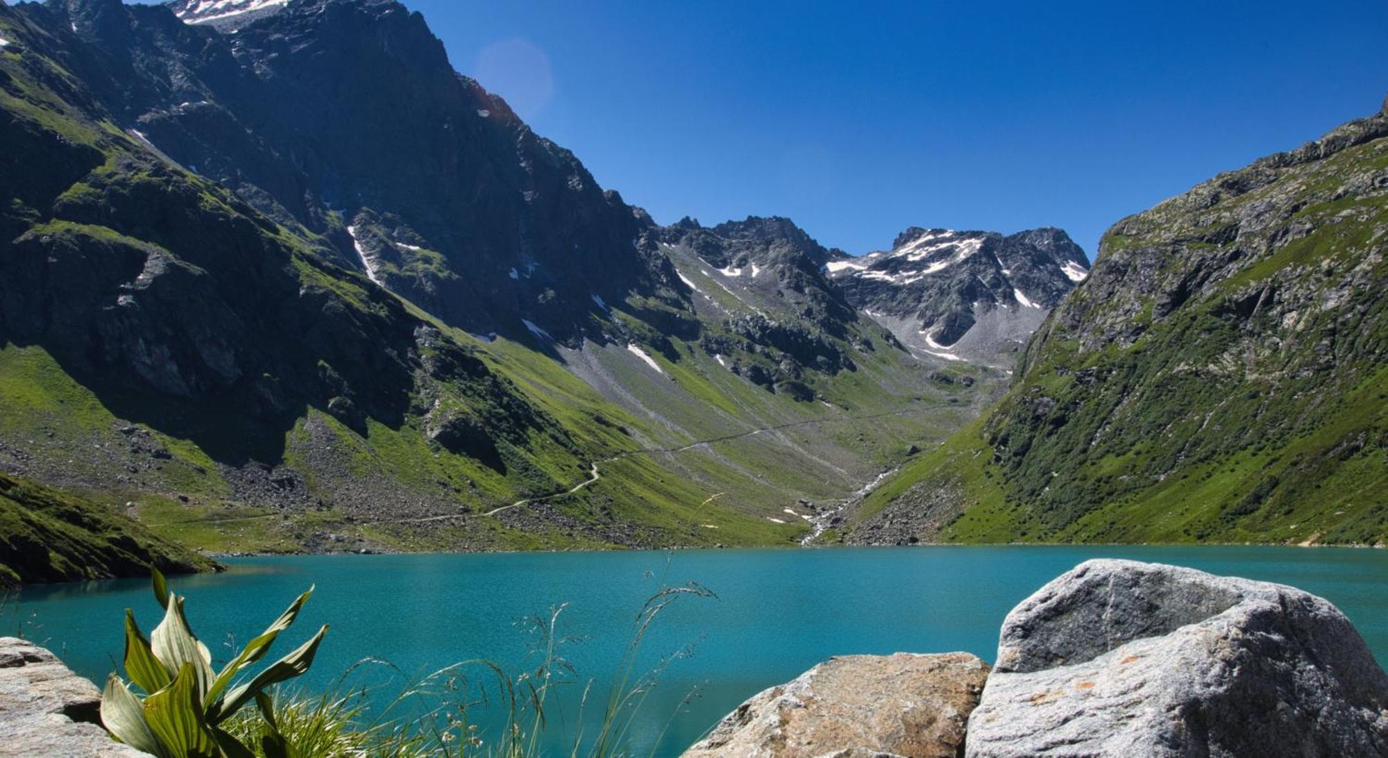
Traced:
<path id="1" fill-rule="evenodd" d="M 254 700 L 265 718 L 261 752 L 269 758 L 290 758 L 294 751 L 279 733 L 266 687 L 308 671 L 328 626 L 248 680 L 236 680 L 269 652 L 280 632 L 294 623 L 312 587 L 214 673 L 211 652 L 193 636 L 183 615 L 185 598 L 169 591 L 164 575 L 153 573 L 154 597 L 164 607 L 164 621 L 149 640 L 135 623 L 135 612 L 125 611 L 125 675 L 146 694 L 133 693 L 112 673 L 101 693 L 101 723 L 117 740 L 160 758 L 248 758 L 255 752 L 221 725 Z"/>

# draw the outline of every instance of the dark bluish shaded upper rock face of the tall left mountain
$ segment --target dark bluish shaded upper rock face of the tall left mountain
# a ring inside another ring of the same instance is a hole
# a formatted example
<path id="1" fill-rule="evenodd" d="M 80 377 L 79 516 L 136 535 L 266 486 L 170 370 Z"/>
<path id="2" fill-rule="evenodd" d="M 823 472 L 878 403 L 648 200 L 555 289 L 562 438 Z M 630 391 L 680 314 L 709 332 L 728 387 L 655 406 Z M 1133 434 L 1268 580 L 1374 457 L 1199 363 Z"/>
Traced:
<path id="1" fill-rule="evenodd" d="M 637 247 L 648 221 L 458 75 L 398 3 L 107 6 L 69 0 L 50 18 L 61 32 L 99 8 L 118 31 L 78 25 L 96 47 L 78 72 L 107 108 L 458 326 L 529 319 L 569 340 L 595 328 L 593 294 L 654 296 L 669 273 Z"/>

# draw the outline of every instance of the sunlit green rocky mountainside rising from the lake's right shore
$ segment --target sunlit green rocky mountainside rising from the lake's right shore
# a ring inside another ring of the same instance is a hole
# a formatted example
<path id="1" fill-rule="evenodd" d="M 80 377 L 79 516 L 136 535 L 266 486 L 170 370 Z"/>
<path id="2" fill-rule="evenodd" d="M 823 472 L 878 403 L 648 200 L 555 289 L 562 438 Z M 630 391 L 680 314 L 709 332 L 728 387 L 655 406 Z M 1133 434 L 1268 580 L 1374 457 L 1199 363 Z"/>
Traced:
<path id="1" fill-rule="evenodd" d="M 1126 218 L 849 541 L 1388 541 L 1388 103 Z"/>

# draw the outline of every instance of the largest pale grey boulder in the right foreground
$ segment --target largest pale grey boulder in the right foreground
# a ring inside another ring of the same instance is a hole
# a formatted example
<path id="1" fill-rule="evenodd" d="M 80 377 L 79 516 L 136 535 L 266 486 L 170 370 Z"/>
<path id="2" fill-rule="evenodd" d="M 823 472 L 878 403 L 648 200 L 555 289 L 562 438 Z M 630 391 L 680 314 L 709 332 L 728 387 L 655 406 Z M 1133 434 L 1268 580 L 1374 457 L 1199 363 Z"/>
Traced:
<path id="1" fill-rule="evenodd" d="M 1388 675 L 1295 587 L 1088 561 L 1008 614 L 966 754 L 1388 755 Z"/>

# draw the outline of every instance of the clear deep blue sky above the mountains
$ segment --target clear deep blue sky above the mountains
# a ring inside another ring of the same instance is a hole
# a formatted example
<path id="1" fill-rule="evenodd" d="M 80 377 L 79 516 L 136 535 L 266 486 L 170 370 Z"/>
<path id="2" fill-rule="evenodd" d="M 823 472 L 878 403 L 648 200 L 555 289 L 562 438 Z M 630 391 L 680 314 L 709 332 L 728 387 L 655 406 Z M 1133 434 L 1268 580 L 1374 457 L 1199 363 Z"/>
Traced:
<path id="1" fill-rule="evenodd" d="M 658 222 L 1099 235 L 1376 111 L 1388 1 L 405 0 Z"/>

